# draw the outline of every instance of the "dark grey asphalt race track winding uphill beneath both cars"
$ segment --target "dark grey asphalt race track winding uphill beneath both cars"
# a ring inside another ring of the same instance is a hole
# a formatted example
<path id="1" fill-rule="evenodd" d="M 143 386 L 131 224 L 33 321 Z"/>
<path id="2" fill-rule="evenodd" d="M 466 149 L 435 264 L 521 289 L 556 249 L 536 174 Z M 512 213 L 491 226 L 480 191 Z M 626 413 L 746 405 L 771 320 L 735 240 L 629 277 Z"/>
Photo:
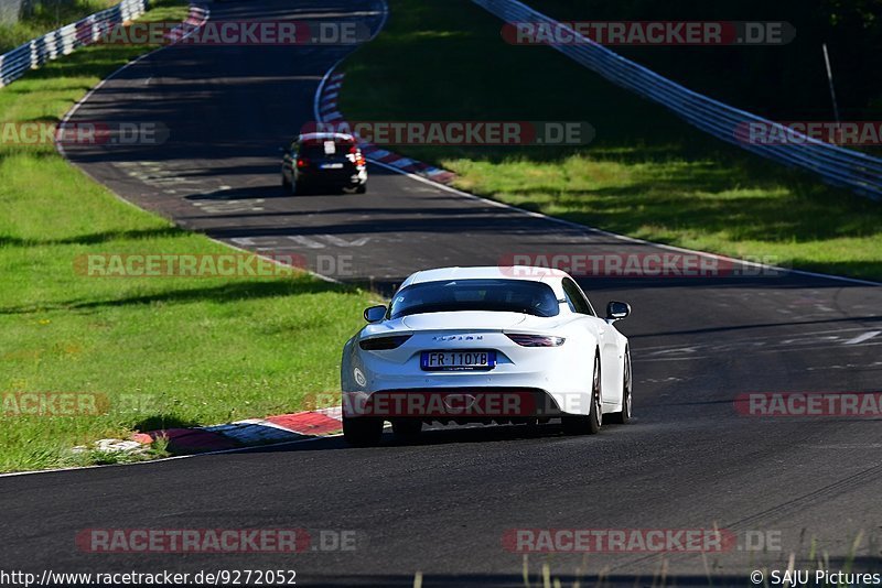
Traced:
<path id="1" fill-rule="evenodd" d="M 373 29 L 383 18 L 372 0 L 251 0 L 211 9 L 215 20 L 343 17 Z M 286 195 L 277 148 L 313 120 L 322 76 L 351 50 L 157 52 L 95 92 L 75 120 L 159 121 L 168 142 L 71 149 L 68 156 L 123 198 L 183 227 L 246 249 L 302 254 L 331 277 L 386 291 L 418 269 L 495 265 L 518 252 L 658 252 L 376 165 L 366 195 Z M 506 530 L 716 525 L 742 540 L 779 533 L 779 552 L 666 557 L 668 584 L 703 585 L 710 569 L 717 586 L 746 586 L 754 564 L 786 567 L 790 552 L 808 553 L 813 536 L 831 568 L 859 532 L 879 538 L 878 420 L 750 417 L 733 405 L 749 392 L 879 391 L 882 336 L 868 335 L 882 330 L 879 287 L 798 274 L 581 284 L 599 308 L 611 300 L 634 308 L 621 324 L 634 358 L 632 425 L 593 437 L 563 436 L 555 426 L 440 429 L 418 445 L 388 439 L 369 449 L 330 438 L 4 478 L 3 567 L 287 568 L 302 586 L 411 586 L 421 571 L 424 586 L 523 586 L 521 556 L 503 547 Z M 95 527 L 351 530 L 358 544 L 297 555 L 85 554 L 75 536 Z M 529 563 L 536 574 L 549 562 L 568 580 L 582 559 L 531 555 Z M 873 564 L 860 556 L 856 567 Z M 592 554 L 585 566 L 589 578 L 605 568 L 624 586 L 636 577 L 648 585 L 663 557 Z"/>

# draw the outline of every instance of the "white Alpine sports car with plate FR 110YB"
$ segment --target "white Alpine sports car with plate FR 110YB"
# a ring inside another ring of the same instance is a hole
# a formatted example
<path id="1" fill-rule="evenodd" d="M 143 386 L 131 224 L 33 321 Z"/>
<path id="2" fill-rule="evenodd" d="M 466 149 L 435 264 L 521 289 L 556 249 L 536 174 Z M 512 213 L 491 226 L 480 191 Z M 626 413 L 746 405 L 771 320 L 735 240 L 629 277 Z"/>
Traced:
<path id="1" fill-rule="evenodd" d="M 413 438 L 423 423 L 547 423 L 594 434 L 631 421 L 631 356 L 567 273 L 449 268 L 410 275 L 343 348 L 343 433 L 378 444 L 386 421 Z M 605 415 L 605 417 L 604 417 Z"/>

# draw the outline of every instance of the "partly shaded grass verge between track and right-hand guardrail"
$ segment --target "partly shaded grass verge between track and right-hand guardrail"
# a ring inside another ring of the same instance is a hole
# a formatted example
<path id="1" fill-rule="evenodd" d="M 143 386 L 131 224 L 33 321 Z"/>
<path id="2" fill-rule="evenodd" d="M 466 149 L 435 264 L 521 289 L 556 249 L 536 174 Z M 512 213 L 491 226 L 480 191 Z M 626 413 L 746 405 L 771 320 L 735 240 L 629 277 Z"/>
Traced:
<path id="1" fill-rule="evenodd" d="M 583 148 L 396 148 L 456 172 L 456 187 L 653 241 L 882 279 L 881 204 L 704 135 L 551 48 L 508 45 L 469 0 L 389 3 L 386 30 L 344 62 L 349 120 L 596 129 Z"/>

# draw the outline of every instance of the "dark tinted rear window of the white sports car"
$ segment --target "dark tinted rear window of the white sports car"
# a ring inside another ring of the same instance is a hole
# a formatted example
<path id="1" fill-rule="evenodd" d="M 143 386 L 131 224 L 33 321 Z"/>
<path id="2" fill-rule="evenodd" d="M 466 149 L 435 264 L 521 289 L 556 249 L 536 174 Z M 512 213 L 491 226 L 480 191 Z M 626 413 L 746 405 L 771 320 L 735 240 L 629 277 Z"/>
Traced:
<path id="1" fill-rule="evenodd" d="M 560 306 L 548 284 L 528 280 L 445 280 L 401 288 L 389 306 L 389 317 L 422 313 L 491 311 L 557 316 Z"/>

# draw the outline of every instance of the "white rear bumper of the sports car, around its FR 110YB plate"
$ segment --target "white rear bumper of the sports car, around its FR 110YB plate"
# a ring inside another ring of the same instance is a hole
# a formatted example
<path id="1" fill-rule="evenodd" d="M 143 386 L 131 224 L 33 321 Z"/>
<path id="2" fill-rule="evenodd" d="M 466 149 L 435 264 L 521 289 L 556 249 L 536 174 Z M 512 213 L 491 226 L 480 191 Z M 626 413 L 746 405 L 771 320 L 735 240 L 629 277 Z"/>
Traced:
<path id="1" fill-rule="evenodd" d="M 590 413 L 594 367 L 590 341 L 573 337 L 560 347 L 527 348 L 502 331 L 472 328 L 461 335 L 418 331 L 390 350 L 364 350 L 357 338 L 351 339 L 341 362 L 344 415 L 512 422 Z M 434 350 L 493 350 L 496 366 L 421 369 L 422 352 Z M 448 398 L 451 402 L 445 403 Z"/>

